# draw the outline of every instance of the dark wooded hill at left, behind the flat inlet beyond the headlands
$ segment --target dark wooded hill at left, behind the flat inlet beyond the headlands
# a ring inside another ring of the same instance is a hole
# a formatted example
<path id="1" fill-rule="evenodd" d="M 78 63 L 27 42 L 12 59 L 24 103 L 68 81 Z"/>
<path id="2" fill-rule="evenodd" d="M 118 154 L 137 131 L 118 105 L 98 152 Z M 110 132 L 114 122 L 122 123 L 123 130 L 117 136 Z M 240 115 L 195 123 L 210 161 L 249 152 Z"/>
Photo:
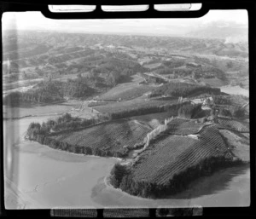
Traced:
<path id="1" fill-rule="evenodd" d="M 90 54 L 90 50 L 88 53 Z M 45 56 L 45 55 L 44 55 Z M 96 89 L 111 89 L 119 83 L 124 83 L 130 79 L 131 75 L 137 72 L 145 72 L 146 69 L 135 61 L 122 60 L 119 58 L 102 58 L 96 56 L 95 63 L 91 63 L 91 58 L 84 58 L 84 64 L 71 64 L 66 70 L 62 68 L 65 63 L 58 62 L 56 59 L 61 59 L 60 55 L 53 57 L 52 64 L 59 68 L 58 72 L 61 75 L 67 71 L 76 69 L 77 78 L 67 79 L 66 82 L 53 79 L 54 73 L 48 74 L 44 82 L 37 84 L 36 87 L 27 90 L 26 92 L 13 92 L 3 98 L 3 104 L 9 106 L 18 106 L 23 103 L 50 103 L 61 101 L 65 96 L 71 98 L 87 98 L 96 93 Z M 89 61 L 89 60 L 90 61 Z M 88 61 L 90 63 L 88 63 Z M 49 66 L 49 71 L 52 67 Z M 69 69 L 69 70 L 68 70 Z M 81 72 L 87 69 L 89 72 L 83 77 Z M 38 75 L 44 76 L 45 72 L 36 67 Z M 24 73 L 26 75 L 26 73 Z M 15 74 L 18 78 L 18 74 Z M 29 76 L 26 75 L 26 78 Z M 10 78 L 10 77 L 9 77 Z M 37 78 L 37 77 L 36 77 Z M 12 78 L 14 79 L 14 78 Z"/>

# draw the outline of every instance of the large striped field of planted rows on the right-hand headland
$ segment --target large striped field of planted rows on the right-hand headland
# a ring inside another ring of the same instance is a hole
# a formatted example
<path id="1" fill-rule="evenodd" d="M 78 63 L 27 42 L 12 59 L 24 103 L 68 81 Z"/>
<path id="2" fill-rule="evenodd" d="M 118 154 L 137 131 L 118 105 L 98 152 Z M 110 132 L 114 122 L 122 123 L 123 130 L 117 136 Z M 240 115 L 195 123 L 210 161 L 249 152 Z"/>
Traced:
<path id="1" fill-rule="evenodd" d="M 188 136 L 168 135 L 154 142 L 141 155 L 134 166 L 134 181 L 168 184 L 173 176 L 200 164 L 204 159 L 229 154 L 218 130 L 207 127 L 200 140 Z M 152 168 L 154 166 L 154 168 Z"/>

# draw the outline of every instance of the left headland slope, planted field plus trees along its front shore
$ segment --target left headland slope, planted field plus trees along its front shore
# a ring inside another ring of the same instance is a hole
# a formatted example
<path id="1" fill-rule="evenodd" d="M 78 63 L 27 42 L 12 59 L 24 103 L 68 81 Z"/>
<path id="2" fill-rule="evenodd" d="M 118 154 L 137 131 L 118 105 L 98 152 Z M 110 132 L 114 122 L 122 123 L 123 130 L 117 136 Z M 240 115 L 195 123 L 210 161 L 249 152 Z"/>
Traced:
<path id="1" fill-rule="evenodd" d="M 28 135 L 31 140 L 39 141 L 55 149 L 72 153 L 83 153 L 103 157 L 125 157 L 137 142 L 143 141 L 151 129 L 135 120 L 119 119 L 89 126 L 73 128 L 48 134 Z"/>

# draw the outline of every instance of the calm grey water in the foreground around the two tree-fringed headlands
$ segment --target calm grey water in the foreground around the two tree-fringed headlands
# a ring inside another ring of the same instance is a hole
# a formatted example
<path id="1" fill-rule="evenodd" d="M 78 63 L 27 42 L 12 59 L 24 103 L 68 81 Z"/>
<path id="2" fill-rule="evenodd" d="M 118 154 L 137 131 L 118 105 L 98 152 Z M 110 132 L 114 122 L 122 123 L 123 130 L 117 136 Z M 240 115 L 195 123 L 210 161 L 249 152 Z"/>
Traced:
<path id="1" fill-rule="evenodd" d="M 4 120 L 7 209 L 250 205 L 249 165 L 201 178 L 170 199 L 142 199 L 123 193 L 106 183 L 116 158 L 67 153 L 24 140 L 32 121 L 47 118 Z"/>

